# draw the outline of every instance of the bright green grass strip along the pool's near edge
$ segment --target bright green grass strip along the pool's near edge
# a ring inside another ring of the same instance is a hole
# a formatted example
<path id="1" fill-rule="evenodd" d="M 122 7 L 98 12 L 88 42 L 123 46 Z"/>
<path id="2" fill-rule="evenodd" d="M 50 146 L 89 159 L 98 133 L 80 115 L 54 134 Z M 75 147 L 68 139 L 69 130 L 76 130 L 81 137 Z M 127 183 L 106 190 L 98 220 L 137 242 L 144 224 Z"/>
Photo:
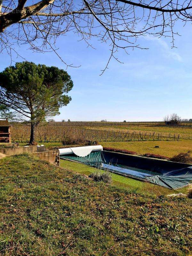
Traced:
<path id="1" fill-rule="evenodd" d="M 72 170 L 76 173 L 81 173 L 85 175 L 89 175 L 92 172 L 95 172 L 96 169 L 91 166 L 87 166 L 85 164 L 76 163 L 73 161 L 62 160 L 60 159 L 60 166 L 64 167 L 68 170 Z M 112 174 L 113 185 L 117 188 L 129 188 L 133 191 L 142 191 L 143 193 L 150 193 L 155 195 L 168 195 L 173 193 L 187 193 L 188 187 L 180 188 L 177 190 L 164 188 L 149 182 L 144 182 L 140 180 L 135 180 L 131 178 L 127 178 L 118 174 Z"/>

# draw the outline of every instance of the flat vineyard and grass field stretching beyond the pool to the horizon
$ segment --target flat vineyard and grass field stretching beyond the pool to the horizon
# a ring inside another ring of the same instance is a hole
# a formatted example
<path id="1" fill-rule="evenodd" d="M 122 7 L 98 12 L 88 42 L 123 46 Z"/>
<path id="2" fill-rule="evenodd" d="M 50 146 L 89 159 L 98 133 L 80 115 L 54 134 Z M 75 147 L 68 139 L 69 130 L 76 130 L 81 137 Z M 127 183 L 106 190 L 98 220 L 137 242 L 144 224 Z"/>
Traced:
<path id="1" fill-rule="evenodd" d="M 12 125 L 12 141 L 28 143 L 30 127 L 16 123 Z M 74 136 L 97 140 L 105 147 L 132 150 L 137 154 L 154 153 L 171 157 L 192 149 L 192 129 L 165 127 L 157 122 L 53 122 L 42 123 L 36 132 L 37 142 L 47 146 L 62 145 L 65 137 Z"/>

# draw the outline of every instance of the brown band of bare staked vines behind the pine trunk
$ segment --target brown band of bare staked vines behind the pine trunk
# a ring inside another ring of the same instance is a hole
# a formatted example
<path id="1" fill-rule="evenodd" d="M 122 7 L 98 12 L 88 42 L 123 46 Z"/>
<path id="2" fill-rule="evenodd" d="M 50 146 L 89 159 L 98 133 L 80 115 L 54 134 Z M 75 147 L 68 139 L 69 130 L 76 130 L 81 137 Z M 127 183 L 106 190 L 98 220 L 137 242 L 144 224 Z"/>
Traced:
<path id="1" fill-rule="evenodd" d="M 65 138 L 84 138 L 86 140 L 97 141 L 142 141 L 142 140 L 179 140 L 179 134 L 169 134 L 165 136 L 157 132 L 124 132 L 124 131 L 106 131 L 106 130 L 88 130 L 82 127 L 38 127 L 36 131 L 36 140 L 38 142 L 61 142 Z M 15 126 L 12 127 L 12 141 L 25 143 L 30 139 L 30 127 Z"/>

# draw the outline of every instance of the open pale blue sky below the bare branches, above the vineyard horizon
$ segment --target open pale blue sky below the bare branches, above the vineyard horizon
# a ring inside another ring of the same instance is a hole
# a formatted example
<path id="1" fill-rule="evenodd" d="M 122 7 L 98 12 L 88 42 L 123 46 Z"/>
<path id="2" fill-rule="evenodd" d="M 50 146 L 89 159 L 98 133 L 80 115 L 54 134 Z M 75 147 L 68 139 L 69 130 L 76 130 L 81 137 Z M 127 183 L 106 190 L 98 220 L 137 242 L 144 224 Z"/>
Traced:
<path id="1" fill-rule="evenodd" d="M 153 36 L 142 37 L 139 43 L 149 50 L 118 52 L 124 64 L 112 60 L 100 76 L 108 61 L 109 47 L 92 40 L 95 49 L 87 48 L 74 33 L 57 41 L 58 53 L 68 64 L 74 82 L 69 95 L 72 101 L 60 109 L 54 119 L 108 121 L 158 121 L 167 114 L 177 113 L 182 118 L 192 118 L 192 26 L 175 28 L 181 36 L 175 39 L 178 48 L 171 49 L 170 39 Z M 47 66 L 66 67 L 53 52 L 34 53 L 26 45 L 15 49 L 28 61 Z M 10 65 L 10 57 L 0 55 L 0 71 Z M 13 56 L 15 61 L 23 61 Z M 14 64 L 14 61 L 13 63 Z"/>

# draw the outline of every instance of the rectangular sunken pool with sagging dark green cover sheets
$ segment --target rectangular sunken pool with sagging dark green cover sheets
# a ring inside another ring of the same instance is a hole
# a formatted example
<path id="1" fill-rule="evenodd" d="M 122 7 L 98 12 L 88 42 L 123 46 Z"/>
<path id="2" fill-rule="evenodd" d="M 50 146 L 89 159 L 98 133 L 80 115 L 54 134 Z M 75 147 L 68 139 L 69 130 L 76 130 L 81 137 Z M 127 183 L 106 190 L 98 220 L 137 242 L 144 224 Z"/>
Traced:
<path id="1" fill-rule="evenodd" d="M 108 151 L 91 152 L 88 156 L 62 155 L 61 159 L 74 160 L 99 169 L 148 180 L 166 188 L 181 188 L 192 181 L 192 165 L 130 156 Z"/>

